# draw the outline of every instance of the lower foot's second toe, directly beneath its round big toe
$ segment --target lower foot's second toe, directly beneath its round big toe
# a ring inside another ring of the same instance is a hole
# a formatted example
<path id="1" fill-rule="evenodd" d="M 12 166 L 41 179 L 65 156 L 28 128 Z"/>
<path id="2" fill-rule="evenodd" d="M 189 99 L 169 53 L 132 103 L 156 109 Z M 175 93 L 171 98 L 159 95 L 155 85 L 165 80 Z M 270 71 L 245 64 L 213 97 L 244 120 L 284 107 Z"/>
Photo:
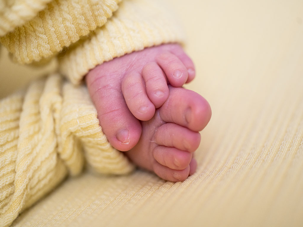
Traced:
<path id="1" fill-rule="evenodd" d="M 155 133 L 155 142 L 158 145 L 175 147 L 188 152 L 197 150 L 200 140 L 200 133 L 174 123 L 161 125 Z"/>

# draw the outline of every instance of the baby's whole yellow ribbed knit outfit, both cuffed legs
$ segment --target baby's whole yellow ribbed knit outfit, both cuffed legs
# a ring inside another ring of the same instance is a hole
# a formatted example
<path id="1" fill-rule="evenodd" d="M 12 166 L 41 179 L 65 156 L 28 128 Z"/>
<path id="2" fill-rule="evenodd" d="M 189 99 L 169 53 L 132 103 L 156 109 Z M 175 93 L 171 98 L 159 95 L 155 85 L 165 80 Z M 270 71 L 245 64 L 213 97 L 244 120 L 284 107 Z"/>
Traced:
<path id="1" fill-rule="evenodd" d="M 13 59 L 43 64 L 55 58 L 58 73 L 0 101 L 0 226 L 85 163 L 97 173 L 132 171 L 102 133 L 82 78 L 104 61 L 181 41 L 182 34 L 155 1 L 119 2 L 1 1 L 0 40 Z"/>

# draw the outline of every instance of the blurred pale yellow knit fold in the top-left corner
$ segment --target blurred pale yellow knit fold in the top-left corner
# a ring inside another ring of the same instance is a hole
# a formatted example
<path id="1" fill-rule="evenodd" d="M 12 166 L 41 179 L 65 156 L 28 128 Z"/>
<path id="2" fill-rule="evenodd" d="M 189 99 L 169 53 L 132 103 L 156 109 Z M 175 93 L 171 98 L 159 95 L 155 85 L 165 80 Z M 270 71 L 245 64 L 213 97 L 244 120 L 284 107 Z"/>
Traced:
<path id="1" fill-rule="evenodd" d="M 51 0 L 1 0 L 0 37 L 23 25 L 43 10 Z"/>

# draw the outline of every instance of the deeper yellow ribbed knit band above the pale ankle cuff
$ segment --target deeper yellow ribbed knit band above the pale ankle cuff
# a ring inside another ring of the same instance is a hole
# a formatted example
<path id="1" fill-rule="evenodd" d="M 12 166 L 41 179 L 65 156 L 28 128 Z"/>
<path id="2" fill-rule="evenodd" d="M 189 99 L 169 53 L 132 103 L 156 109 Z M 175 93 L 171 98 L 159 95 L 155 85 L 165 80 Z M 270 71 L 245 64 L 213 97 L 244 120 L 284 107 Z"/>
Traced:
<path id="1" fill-rule="evenodd" d="M 45 61 L 104 25 L 120 1 L 52 0 L 32 20 L 16 27 L 0 41 L 19 63 Z M 22 10 L 27 12 L 27 8 Z"/>

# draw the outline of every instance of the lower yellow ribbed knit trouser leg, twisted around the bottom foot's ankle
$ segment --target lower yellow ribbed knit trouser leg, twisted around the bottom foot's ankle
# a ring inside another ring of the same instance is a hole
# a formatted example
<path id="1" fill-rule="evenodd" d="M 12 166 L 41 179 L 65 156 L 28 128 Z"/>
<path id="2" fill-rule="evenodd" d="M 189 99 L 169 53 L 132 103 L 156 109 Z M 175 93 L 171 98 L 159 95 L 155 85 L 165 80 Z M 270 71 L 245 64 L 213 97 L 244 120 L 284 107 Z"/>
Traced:
<path id="1" fill-rule="evenodd" d="M 10 225 L 68 173 L 78 175 L 85 160 L 97 173 L 133 169 L 102 133 L 86 87 L 52 75 L 1 100 L 0 226 Z"/>

